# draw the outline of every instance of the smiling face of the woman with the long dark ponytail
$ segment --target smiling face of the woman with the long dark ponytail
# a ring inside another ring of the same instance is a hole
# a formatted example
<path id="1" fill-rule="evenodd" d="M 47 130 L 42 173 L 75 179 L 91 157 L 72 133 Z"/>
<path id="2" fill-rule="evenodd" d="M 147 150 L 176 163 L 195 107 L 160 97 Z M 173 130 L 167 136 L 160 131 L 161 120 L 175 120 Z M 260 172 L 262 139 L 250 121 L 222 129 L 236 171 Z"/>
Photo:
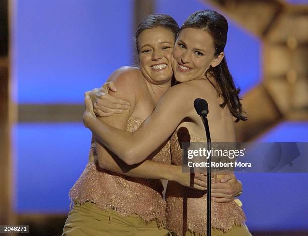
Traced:
<path id="1" fill-rule="evenodd" d="M 173 50 L 173 72 L 177 81 L 205 78 L 206 70 L 215 67 L 217 57 L 213 38 L 204 29 L 184 28 Z"/>

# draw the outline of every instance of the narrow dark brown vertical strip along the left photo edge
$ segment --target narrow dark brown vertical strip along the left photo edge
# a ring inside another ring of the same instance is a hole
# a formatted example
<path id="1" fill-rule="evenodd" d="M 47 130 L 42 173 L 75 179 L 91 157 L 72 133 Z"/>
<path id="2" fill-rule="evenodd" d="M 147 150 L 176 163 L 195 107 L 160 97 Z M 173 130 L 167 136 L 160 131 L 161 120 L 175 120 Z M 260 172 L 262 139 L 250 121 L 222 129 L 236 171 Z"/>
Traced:
<path id="1" fill-rule="evenodd" d="M 10 102 L 8 9 L 8 1 L 0 1 L 0 225 L 15 223 L 12 211 L 14 195 L 11 127 L 14 119 Z"/>

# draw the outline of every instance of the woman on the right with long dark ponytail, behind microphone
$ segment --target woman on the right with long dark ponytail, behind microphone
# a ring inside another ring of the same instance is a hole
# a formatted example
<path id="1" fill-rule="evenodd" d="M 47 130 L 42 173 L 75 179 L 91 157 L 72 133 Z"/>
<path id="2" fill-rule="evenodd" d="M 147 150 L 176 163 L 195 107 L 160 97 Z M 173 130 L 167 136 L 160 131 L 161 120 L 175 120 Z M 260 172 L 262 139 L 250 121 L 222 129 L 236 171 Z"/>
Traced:
<path id="1" fill-rule="evenodd" d="M 203 98 L 211 110 L 208 120 L 212 141 L 235 142 L 234 121 L 246 117 L 242 115 L 239 91 L 225 60 L 227 31 L 226 19 L 215 11 L 199 11 L 189 16 L 173 49 L 172 68 L 181 83 L 164 93 L 140 127 L 130 133 L 101 123 L 93 112 L 89 93 L 85 95 L 85 126 L 128 165 L 144 161 L 144 156 L 171 135 L 172 163 L 181 165 L 180 137 L 188 137 L 192 142 L 206 140 L 202 121 L 193 106 L 196 98 Z M 177 235 L 205 235 L 204 192 L 170 181 L 166 196 L 167 229 Z M 244 225 L 245 215 L 234 201 L 213 202 L 212 212 L 212 235 L 250 235 Z"/>

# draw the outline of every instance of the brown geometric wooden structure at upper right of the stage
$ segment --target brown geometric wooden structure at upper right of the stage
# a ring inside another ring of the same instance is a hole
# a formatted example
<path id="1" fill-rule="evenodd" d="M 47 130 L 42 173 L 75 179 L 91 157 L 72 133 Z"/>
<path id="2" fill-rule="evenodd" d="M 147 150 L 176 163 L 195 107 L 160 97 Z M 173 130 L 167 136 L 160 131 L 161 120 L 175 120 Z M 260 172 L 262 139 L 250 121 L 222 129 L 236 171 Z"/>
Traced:
<path id="1" fill-rule="evenodd" d="M 308 6 L 278 0 L 205 2 L 262 43 L 262 81 L 243 96 L 249 119 L 236 125 L 237 139 L 256 138 L 283 120 L 308 120 Z"/>

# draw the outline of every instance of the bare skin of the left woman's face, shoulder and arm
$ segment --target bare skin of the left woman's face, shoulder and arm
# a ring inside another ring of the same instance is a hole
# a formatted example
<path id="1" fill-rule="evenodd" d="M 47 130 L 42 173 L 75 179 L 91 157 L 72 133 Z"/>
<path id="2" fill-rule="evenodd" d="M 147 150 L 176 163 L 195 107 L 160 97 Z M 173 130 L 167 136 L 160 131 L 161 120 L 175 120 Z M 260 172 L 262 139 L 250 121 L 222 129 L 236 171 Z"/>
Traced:
<path id="1" fill-rule="evenodd" d="M 171 52 L 174 45 L 173 33 L 161 27 L 144 30 L 140 34 L 139 44 L 141 69 L 122 67 L 116 70 L 108 79 L 108 81 L 113 82 L 118 91 L 113 95 L 125 97 L 130 103 L 129 109 L 125 110 L 121 115 L 115 114 L 112 117 L 99 118 L 106 124 L 121 130 L 126 130 L 127 120 L 130 116 L 145 120 L 155 108 L 158 99 L 170 88 L 170 78 L 172 76 Z M 151 66 L 158 63 L 166 64 L 166 69 L 161 71 L 152 70 Z M 128 166 L 116 155 L 104 148 L 101 143 L 96 142 L 96 146 L 98 162 L 101 168 L 127 176 L 167 179 L 177 181 L 187 187 L 194 187 L 199 190 L 206 189 L 206 176 L 204 175 L 197 173 L 194 186 L 190 186 L 190 174 L 182 173 L 179 166 L 149 160 L 145 160 L 138 165 Z"/>

